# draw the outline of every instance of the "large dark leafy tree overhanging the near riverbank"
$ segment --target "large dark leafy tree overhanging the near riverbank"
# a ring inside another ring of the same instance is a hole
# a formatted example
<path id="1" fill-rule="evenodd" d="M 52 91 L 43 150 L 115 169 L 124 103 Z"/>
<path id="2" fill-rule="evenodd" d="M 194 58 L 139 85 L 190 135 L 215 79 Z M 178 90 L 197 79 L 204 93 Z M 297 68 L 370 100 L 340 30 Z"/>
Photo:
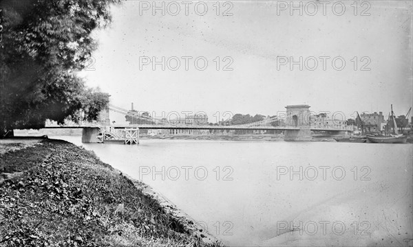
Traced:
<path id="1" fill-rule="evenodd" d="M 109 23 L 116 2 L 0 2 L 0 138 L 15 128 L 42 128 L 45 119 L 97 118 L 109 95 L 87 89 L 76 73 L 96 49 L 92 31 Z"/>

